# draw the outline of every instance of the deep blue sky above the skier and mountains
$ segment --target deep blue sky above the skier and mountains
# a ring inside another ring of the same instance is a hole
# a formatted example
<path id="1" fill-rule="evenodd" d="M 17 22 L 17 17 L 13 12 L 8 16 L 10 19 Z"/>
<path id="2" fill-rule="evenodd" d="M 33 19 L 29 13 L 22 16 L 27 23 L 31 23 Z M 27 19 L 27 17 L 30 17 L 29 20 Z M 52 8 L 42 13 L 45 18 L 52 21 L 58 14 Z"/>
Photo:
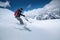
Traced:
<path id="1" fill-rule="evenodd" d="M 48 4 L 51 0 L 0 0 L 2 2 L 10 2 L 10 10 L 15 11 L 18 8 L 23 8 L 24 10 L 32 10 L 35 8 L 42 8 Z"/>

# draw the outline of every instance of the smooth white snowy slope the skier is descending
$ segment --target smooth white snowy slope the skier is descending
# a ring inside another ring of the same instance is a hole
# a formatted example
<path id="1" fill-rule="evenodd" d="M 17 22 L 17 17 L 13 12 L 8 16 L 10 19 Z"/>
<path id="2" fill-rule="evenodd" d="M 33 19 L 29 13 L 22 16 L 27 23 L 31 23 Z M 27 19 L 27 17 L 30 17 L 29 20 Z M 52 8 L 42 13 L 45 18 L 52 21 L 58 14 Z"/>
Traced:
<path id="1" fill-rule="evenodd" d="M 17 24 L 19 22 L 13 13 L 0 8 L 0 40 L 60 40 L 60 19 L 45 21 L 30 19 L 32 23 L 25 22 L 26 27 L 32 30 L 29 32 L 15 29 L 23 26 Z"/>

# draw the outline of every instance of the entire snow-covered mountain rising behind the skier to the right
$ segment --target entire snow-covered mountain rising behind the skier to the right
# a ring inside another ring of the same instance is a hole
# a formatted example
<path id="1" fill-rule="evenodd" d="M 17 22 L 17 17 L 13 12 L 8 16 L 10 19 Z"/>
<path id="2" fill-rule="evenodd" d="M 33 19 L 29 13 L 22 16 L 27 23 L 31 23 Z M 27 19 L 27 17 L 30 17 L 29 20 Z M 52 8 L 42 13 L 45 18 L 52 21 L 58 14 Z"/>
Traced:
<path id="1" fill-rule="evenodd" d="M 46 19 L 60 19 L 60 0 L 52 0 L 43 8 L 25 11 L 25 15 L 29 18 L 36 18 L 37 20 Z"/>

